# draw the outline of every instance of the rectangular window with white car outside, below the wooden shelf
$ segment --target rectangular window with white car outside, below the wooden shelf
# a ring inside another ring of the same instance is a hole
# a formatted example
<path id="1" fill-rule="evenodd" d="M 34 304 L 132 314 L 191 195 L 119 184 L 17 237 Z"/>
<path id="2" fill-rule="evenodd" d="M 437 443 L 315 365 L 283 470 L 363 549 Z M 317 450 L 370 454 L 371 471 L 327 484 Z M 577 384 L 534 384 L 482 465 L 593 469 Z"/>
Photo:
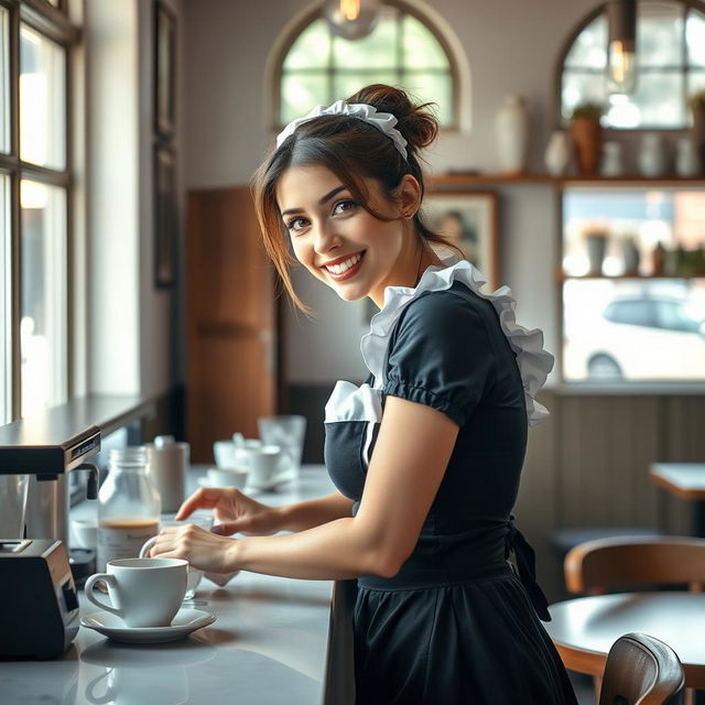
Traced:
<path id="1" fill-rule="evenodd" d="M 705 380 L 705 189 L 563 191 L 563 378 Z"/>

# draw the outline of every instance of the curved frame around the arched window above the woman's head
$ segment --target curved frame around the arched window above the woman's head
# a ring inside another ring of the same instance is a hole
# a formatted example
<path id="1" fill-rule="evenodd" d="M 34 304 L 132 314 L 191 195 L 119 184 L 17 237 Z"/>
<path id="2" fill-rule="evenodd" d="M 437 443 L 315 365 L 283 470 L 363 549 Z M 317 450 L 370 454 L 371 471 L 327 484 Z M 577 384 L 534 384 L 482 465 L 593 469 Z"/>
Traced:
<path id="1" fill-rule="evenodd" d="M 422 14 L 419 9 L 403 2 L 403 0 L 383 0 L 383 4 L 390 6 L 397 9 L 399 12 L 403 14 L 408 14 L 413 17 L 415 20 L 421 22 L 435 37 L 435 40 L 441 45 L 441 48 L 445 53 L 448 59 L 448 68 L 449 68 L 449 77 L 451 77 L 451 87 L 452 87 L 452 106 L 451 106 L 451 115 L 452 120 L 448 124 L 445 124 L 441 128 L 442 132 L 459 132 L 462 130 L 462 115 L 460 115 L 460 72 L 457 65 L 457 58 L 455 53 L 451 46 L 451 43 L 443 35 L 440 28 L 425 14 Z M 321 7 L 315 7 L 311 11 L 303 14 L 299 21 L 288 28 L 286 36 L 283 42 L 278 46 L 278 51 L 275 56 L 273 57 L 274 69 L 272 72 L 272 80 L 270 85 L 270 90 L 272 95 L 271 111 L 269 116 L 269 128 L 272 132 L 279 132 L 282 130 L 284 124 L 280 121 L 282 101 L 281 101 L 281 86 L 282 86 L 282 77 L 284 75 L 283 66 L 284 59 L 289 54 L 289 51 L 294 45 L 301 33 L 315 20 L 319 19 L 322 15 Z M 330 68 L 327 67 L 326 70 L 330 73 Z M 333 69 L 334 70 L 334 69 Z M 313 107 L 313 106 L 312 106 Z"/>

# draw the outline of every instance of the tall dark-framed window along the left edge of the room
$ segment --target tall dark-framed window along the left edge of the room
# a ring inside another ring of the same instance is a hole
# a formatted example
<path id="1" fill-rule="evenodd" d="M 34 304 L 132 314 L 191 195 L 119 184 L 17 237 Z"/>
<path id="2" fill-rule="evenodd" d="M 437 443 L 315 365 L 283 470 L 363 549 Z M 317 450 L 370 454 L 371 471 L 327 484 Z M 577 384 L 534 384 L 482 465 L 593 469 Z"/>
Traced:
<path id="1" fill-rule="evenodd" d="M 58 0 L 46 8 L 0 0 L 0 423 L 68 397 L 67 96 L 76 36 Z"/>

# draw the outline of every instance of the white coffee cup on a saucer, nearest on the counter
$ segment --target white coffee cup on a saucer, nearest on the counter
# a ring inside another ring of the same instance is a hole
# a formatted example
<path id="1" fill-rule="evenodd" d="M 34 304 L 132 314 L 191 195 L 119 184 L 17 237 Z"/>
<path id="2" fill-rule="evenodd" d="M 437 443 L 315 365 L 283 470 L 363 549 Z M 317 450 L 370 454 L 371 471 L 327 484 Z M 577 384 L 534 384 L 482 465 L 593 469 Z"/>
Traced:
<path id="1" fill-rule="evenodd" d="M 107 573 L 96 573 L 86 581 L 86 597 L 130 628 L 169 627 L 186 593 L 187 566 L 181 558 L 108 561 Z M 100 582 L 108 586 L 110 605 L 95 593 Z"/>

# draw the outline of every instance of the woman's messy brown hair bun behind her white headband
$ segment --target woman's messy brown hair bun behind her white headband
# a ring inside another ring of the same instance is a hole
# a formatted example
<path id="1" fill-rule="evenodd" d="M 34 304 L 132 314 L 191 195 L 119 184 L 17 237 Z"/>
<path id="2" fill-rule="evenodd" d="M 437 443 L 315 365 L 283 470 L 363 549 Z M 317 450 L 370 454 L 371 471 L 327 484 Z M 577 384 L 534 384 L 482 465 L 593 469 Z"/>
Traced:
<path id="1" fill-rule="evenodd" d="M 401 88 L 372 84 L 347 98 L 346 102 L 366 102 L 379 112 L 391 112 L 398 120 L 397 129 L 413 152 L 431 144 L 438 133 L 438 120 L 432 111 L 434 104 L 414 104 Z"/>

